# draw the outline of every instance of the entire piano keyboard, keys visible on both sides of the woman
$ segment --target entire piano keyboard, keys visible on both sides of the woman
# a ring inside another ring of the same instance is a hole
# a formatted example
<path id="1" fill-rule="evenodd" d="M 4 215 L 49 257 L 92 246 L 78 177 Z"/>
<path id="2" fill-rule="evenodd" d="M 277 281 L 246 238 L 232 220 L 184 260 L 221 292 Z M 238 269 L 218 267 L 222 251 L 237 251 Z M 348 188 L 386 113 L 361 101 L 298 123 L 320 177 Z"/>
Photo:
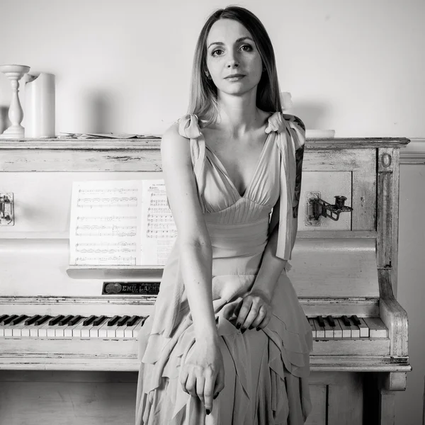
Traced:
<path id="1" fill-rule="evenodd" d="M 104 315 L 82 317 L 59 314 L 55 317 L 35 314 L 0 315 L 0 337 L 115 339 L 136 338 L 147 316 Z M 378 317 L 307 317 L 314 339 L 387 338 L 388 329 Z"/>

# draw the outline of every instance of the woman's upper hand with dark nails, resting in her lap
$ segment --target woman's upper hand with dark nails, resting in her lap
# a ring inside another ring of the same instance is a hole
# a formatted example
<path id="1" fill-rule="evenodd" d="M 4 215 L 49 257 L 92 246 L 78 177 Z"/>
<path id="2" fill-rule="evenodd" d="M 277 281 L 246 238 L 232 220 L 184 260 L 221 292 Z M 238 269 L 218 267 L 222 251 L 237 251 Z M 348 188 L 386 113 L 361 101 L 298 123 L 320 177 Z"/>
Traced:
<path id="1" fill-rule="evenodd" d="M 261 290 L 252 290 L 234 310 L 237 316 L 236 327 L 242 334 L 246 329 L 257 331 L 265 328 L 271 319 L 271 300 Z"/>

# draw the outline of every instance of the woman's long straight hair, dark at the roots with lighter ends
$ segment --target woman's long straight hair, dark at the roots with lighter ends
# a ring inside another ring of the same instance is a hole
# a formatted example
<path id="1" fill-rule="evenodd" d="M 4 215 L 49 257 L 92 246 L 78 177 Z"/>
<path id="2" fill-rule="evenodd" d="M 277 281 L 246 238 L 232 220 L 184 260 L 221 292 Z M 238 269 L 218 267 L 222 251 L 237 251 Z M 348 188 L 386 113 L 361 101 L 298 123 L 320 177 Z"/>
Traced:
<path id="1" fill-rule="evenodd" d="M 198 115 L 199 120 L 202 120 L 201 127 L 208 127 L 217 120 L 217 87 L 206 77 L 208 71 L 206 56 L 208 34 L 212 25 L 219 19 L 238 21 L 251 33 L 259 50 L 263 67 L 266 68 L 257 86 L 256 106 L 266 112 L 281 111 L 276 59 L 266 28 L 259 18 L 246 8 L 227 6 L 212 13 L 200 31 L 193 57 L 188 113 Z"/>

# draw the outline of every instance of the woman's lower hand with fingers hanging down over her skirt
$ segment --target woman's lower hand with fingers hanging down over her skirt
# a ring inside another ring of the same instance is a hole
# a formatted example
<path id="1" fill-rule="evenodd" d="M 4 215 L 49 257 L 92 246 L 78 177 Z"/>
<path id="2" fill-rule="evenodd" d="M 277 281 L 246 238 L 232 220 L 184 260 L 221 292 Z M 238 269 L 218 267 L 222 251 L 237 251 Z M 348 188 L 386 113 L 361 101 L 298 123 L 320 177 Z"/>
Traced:
<path id="1" fill-rule="evenodd" d="M 180 382 L 183 391 L 199 397 L 210 414 L 212 400 L 225 387 L 225 366 L 218 341 L 196 341 L 181 370 Z"/>

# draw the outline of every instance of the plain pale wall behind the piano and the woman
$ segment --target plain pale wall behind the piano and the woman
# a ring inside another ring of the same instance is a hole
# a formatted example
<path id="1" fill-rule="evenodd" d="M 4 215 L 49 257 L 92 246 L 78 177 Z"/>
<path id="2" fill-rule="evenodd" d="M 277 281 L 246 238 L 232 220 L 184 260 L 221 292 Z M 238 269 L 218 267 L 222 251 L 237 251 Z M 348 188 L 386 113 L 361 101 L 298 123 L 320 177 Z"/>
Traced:
<path id="1" fill-rule="evenodd" d="M 57 133 L 160 135 L 186 113 L 200 28 L 227 4 L 0 0 L 0 64 L 56 75 Z M 307 128 L 334 129 L 336 137 L 425 136 L 425 1 L 234 4 L 266 26 L 280 89 L 292 93 L 292 111 Z M 24 84 L 20 95 L 24 106 Z M 0 132 L 10 99 L 10 82 L 0 74 Z M 425 180 L 423 166 L 409 167 L 402 166 L 400 184 L 398 288 L 410 319 L 414 372 L 397 396 L 397 425 L 420 423 L 424 375 L 424 205 L 414 205 Z"/>

